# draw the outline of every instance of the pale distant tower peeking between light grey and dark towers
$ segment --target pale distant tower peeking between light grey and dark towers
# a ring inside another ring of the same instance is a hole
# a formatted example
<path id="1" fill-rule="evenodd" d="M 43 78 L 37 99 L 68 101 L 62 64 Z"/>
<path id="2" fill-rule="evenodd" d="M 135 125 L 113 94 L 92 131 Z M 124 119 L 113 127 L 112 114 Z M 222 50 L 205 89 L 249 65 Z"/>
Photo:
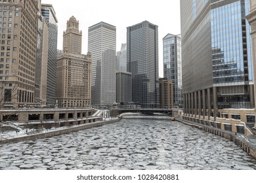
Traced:
<path id="1" fill-rule="evenodd" d="M 121 50 L 117 52 L 116 71 L 127 71 L 126 43 L 121 44 Z"/>

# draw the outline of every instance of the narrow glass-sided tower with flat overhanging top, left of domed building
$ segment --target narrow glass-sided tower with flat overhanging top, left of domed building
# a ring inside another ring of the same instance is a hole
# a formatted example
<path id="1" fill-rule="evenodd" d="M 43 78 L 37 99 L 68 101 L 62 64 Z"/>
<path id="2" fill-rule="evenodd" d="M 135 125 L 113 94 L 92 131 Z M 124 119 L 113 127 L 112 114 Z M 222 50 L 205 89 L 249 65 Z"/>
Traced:
<path id="1" fill-rule="evenodd" d="M 53 5 L 42 4 L 41 13 L 48 22 L 48 67 L 47 67 L 47 105 L 56 103 L 56 61 L 58 42 L 58 20 Z"/>

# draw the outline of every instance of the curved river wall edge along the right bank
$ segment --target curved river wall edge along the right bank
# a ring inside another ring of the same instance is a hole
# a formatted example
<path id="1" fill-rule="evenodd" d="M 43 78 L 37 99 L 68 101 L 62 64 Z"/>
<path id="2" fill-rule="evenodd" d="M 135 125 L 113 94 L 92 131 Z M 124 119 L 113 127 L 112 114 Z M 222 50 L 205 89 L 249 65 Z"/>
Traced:
<path id="1" fill-rule="evenodd" d="M 236 133 L 233 133 L 231 131 L 225 131 L 215 127 L 197 124 L 181 118 L 177 118 L 176 120 L 178 122 L 182 122 L 183 124 L 191 125 L 193 127 L 198 127 L 203 131 L 207 131 L 214 135 L 218 135 L 220 137 L 224 137 L 225 139 L 229 139 L 230 141 L 234 142 L 236 145 L 240 146 L 242 150 L 247 152 L 250 156 L 256 159 L 256 144 L 249 142 L 249 139 L 247 139 L 247 137 L 244 137 L 244 135 L 237 135 Z"/>

